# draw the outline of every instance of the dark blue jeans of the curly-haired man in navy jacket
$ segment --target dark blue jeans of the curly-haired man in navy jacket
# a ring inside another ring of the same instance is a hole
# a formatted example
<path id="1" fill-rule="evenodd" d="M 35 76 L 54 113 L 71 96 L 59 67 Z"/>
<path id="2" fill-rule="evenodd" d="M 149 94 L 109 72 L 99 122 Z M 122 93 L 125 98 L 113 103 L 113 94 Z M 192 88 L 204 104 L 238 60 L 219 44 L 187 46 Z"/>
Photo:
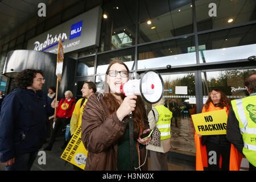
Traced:
<path id="1" fill-rule="evenodd" d="M 6 166 L 6 171 L 30 171 L 32 164 L 34 163 L 38 151 L 30 152 L 26 154 L 19 154 L 15 156 L 14 164 Z"/>

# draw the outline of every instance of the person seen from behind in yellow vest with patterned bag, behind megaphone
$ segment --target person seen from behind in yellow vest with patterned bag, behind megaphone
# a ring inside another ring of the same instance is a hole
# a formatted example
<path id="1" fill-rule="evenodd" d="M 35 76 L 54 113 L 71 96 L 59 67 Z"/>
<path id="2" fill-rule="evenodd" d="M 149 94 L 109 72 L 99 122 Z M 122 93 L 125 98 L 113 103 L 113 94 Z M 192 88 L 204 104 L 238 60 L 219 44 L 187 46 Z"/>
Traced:
<path id="1" fill-rule="evenodd" d="M 171 146 L 172 112 L 164 106 L 164 97 L 152 106 L 153 109 L 148 113 L 148 122 L 150 129 L 159 134 L 153 133 L 151 142 L 146 147 L 150 150 L 151 170 L 168 171 L 167 154 Z"/>

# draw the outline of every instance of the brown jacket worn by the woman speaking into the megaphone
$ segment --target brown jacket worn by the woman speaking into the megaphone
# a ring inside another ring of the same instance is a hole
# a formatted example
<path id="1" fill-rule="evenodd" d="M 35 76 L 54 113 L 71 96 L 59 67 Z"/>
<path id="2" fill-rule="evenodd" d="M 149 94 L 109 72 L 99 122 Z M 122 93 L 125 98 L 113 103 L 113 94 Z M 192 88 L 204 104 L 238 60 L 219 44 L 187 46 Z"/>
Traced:
<path id="1" fill-rule="evenodd" d="M 129 119 L 119 121 L 117 113 L 109 115 L 102 94 L 96 92 L 90 96 L 82 114 L 81 140 L 88 156 L 85 170 L 117 170 L 118 139 L 125 133 Z M 144 129 L 148 129 L 148 122 Z M 146 147 L 137 145 L 139 160 L 142 164 L 146 158 Z M 147 162 L 141 167 L 147 169 Z"/>

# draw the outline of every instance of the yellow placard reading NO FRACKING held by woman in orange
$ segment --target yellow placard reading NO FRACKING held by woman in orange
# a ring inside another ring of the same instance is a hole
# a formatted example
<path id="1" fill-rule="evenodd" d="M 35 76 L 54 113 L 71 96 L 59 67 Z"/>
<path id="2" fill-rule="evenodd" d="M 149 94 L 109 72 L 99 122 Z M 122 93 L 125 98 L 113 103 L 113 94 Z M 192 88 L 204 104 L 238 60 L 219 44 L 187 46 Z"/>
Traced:
<path id="1" fill-rule="evenodd" d="M 226 134 L 228 115 L 224 109 L 191 115 L 195 130 L 200 135 Z"/>

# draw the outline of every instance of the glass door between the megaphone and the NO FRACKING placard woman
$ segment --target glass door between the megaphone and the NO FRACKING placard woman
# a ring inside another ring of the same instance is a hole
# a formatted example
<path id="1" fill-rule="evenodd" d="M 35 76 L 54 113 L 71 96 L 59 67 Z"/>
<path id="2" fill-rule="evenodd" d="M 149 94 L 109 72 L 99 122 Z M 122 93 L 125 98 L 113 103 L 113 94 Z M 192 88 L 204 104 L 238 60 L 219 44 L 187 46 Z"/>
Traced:
<path id="1" fill-rule="evenodd" d="M 172 111 L 170 151 L 196 155 L 195 130 L 191 114 L 196 114 L 195 73 L 162 75 L 165 106 Z"/>

